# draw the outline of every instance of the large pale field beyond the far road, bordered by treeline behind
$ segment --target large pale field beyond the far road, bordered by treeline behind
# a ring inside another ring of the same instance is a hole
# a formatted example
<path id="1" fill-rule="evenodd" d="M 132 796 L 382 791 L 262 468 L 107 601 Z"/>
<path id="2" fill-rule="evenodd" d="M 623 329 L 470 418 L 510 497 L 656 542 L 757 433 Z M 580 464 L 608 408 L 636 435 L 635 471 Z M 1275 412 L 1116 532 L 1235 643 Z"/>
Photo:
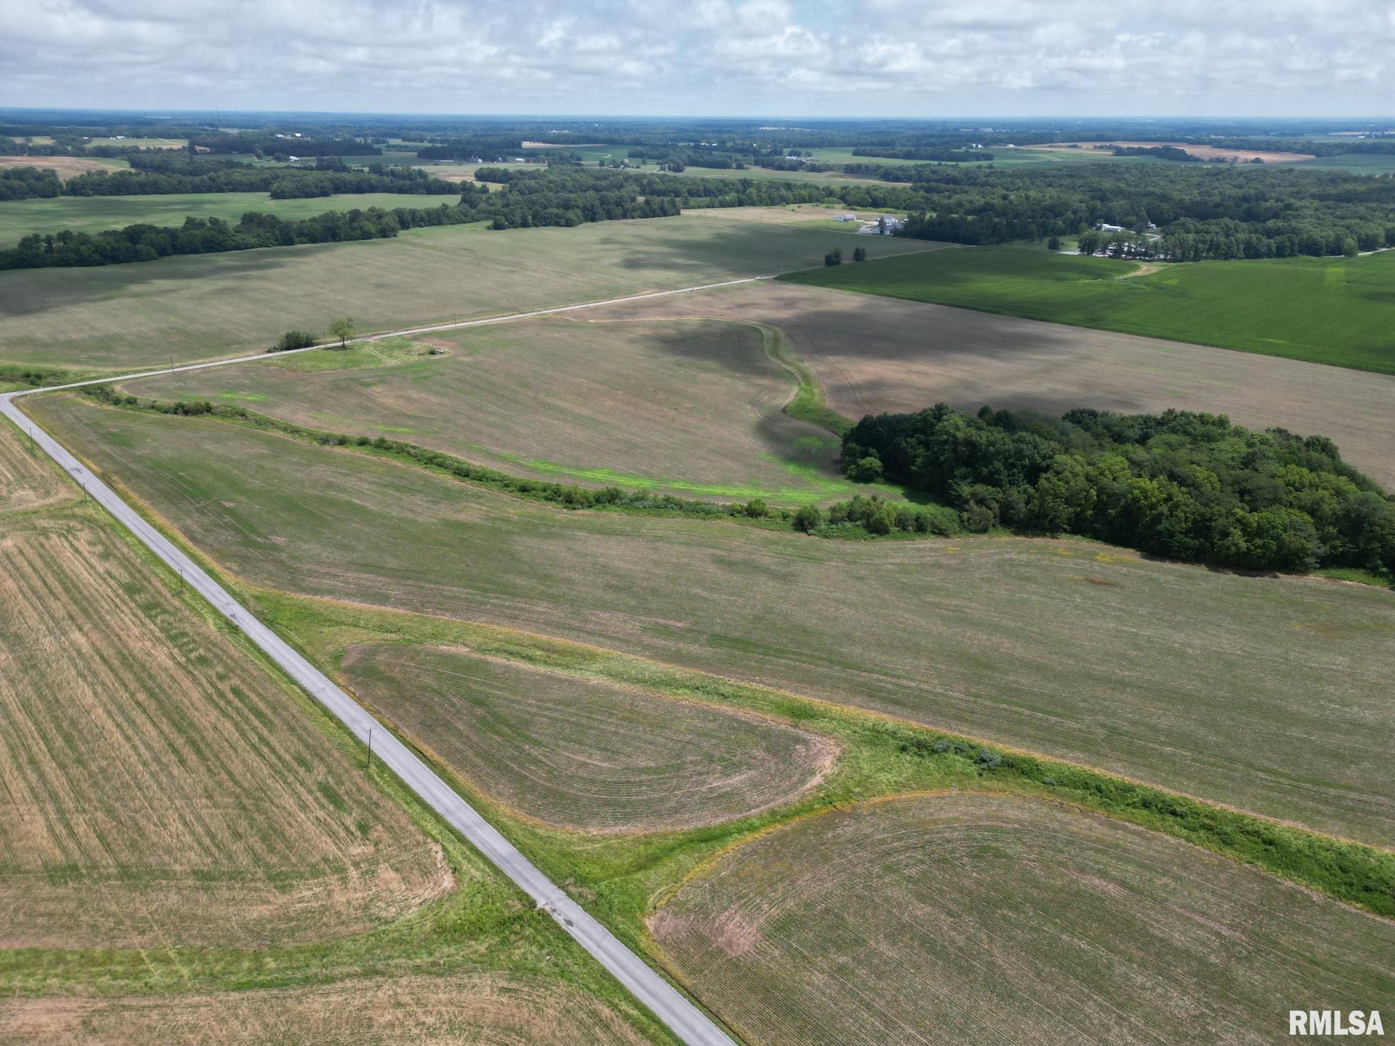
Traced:
<path id="1" fill-rule="evenodd" d="M 91 269 L 0 273 L 0 363 L 134 368 L 265 349 L 353 315 L 363 332 L 820 265 L 845 237 L 700 218 L 575 229 L 413 229 Z M 925 250 L 904 241 L 897 250 Z"/>

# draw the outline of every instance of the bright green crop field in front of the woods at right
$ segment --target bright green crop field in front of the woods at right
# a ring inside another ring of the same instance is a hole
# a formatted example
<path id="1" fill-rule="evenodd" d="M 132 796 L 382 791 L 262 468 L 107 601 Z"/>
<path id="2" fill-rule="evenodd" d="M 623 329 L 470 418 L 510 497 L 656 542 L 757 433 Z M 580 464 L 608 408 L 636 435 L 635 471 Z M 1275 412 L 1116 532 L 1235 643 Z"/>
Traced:
<path id="1" fill-rule="evenodd" d="M 819 287 L 976 308 L 1395 374 L 1395 251 L 1162 265 L 975 247 L 791 275 Z"/>

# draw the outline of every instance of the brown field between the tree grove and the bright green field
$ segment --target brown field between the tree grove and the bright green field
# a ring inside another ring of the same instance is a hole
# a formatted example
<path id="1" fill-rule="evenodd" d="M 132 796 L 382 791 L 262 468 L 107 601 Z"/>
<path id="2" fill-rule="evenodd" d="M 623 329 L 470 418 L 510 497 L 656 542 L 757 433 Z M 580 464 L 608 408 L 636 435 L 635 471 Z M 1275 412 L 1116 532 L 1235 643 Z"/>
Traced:
<path id="1" fill-rule="evenodd" d="M 777 326 L 819 375 L 829 404 L 854 418 L 942 400 L 1048 414 L 1207 410 L 1253 428 L 1331 437 L 1348 462 L 1395 488 L 1391 375 L 783 282 L 603 314 L 651 311 Z"/>

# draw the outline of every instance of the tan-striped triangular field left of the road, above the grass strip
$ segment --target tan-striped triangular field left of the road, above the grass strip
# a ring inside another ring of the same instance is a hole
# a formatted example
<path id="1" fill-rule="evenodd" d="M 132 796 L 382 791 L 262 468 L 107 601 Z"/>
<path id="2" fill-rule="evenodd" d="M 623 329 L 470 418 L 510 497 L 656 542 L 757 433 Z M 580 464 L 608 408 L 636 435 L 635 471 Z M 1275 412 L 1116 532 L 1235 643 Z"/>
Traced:
<path id="1" fill-rule="evenodd" d="M 63 501 L 0 517 L 0 947 L 324 940 L 448 893 L 299 699 Z"/>

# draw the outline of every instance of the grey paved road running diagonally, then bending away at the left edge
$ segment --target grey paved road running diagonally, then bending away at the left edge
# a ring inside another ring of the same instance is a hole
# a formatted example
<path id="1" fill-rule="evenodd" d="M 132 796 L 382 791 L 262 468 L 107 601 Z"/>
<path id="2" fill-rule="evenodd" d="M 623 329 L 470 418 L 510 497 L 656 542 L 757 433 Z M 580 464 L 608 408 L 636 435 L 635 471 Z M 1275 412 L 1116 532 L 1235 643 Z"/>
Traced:
<path id="1" fill-rule="evenodd" d="M 731 286 L 732 283 L 751 283 L 753 279 L 770 279 L 769 276 L 755 276 L 744 280 L 728 280 L 727 283 L 711 283 L 703 287 L 685 287 L 682 290 L 665 290 L 653 294 L 632 294 L 624 298 L 608 301 L 593 301 L 582 305 L 564 305 L 561 308 L 544 308 L 536 312 L 518 312 L 508 317 L 491 319 L 472 319 L 462 324 L 442 324 L 439 326 L 413 328 L 395 333 L 375 335 L 372 338 L 356 339 L 371 342 L 381 338 L 393 338 L 407 333 L 424 333 L 428 331 L 445 331 L 458 326 L 476 326 L 480 324 L 498 324 L 509 319 L 525 319 L 527 317 L 547 315 L 550 312 L 566 312 L 576 308 L 594 308 L 618 301 L 635 301 L 647 297 L 661 297 L 664 294 L 682 294 L 691 290 L 706 290 L 709 287 Z M 308 351 L 308 350 L 293 350 Z M 285 354 L 285 353 L 279 353 Z M 190 364 L 187 367 L 173 367 L 163 371 L 145 371 L 144 374 L 169 374 L 172 371 L 199 370 L 202 367 L 220 367 L 246 360 L 265 358 L 265 354 L 243 356 L 232 360 L 218 360 L 205 364 Z M 124 375 L 134 378 L 140 375 Z M 102 378 L 89 382 L 74 382 L 57 388 L 77 388 L 80 385 L 98 385 L 116 378 Z M 435 771 L 423 763 L 412 750 L 393 736 L 381 722 L 372 718 L 357 702 L 340 690 L 326 675 L 315 668 L 310 661 L 293 650 L 280 636 L 259 622 L 246 607 L 239 604 L 218 582 L 209 577 L 193 559 L 181 552 L 172 541 L 151 526 L 130 505 L 121 501 L 116 492 L 99 480 L 86 466 L 74 457 L 67 448 L 43 431 L 28 414 L 14 403 L 21 396 L 31 396 L 39 392 L 53 392 L 47 389 L 27 389 L 22 392 L 0 393 L 0 414 L 4 414 L 20 431 L 29 435 L 38 446 L 59 463 L 82 488 L 117 522 L 126 526 L 141 540 L 155 555 L 158 555 L 172 569 L 177 570 L 184 583 L 197 590 L 213 608 L 225 618 L 237 625 L 241 632 L 258 647 L 266 651 L 278 665 L 280 665 L 292 679 L 310 692 L 315 700 L 324 704 L 329 713 L 339 720 L 359 741 L 368 742 L 370 731 L 372 736 L 374 756 L 381 759 L 406 785 L 428 803 L 437 813 L 451 823 L 462 835 L 473 842 L 485 858 L 488 858 L 504 874 L 512 879 L 522 890 L 531 897 L 538 908 L 547 912 L 566 930 L 576 941 L 594 955 L 617 980 L 619 980 L 633 996 L 649 1007 L 660 1021 L 691 1046 L 716 1046 L 731 1043 L 731 1039 L 698 1007 L 688 1001 L 672 985 L 651 969 L 639 955 L 619 941 L 615 934 L 601 926 L 586 914 L 579 904 L 562 893 L 547 876 L 544 876 L 527 858 L 525 858 L 504 835 L 494 828 L 478 812 L 462 799 L 455 789 L 442 781 Z"/>

